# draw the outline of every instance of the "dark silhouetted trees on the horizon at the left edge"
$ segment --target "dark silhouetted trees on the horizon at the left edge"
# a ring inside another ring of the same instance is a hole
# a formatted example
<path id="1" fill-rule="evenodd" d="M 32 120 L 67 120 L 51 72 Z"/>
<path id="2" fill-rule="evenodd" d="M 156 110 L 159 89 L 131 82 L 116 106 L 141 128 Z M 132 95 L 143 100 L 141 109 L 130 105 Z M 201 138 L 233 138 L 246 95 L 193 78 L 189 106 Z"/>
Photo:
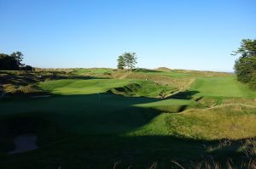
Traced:
<path id="1" fill-rule="evenodd" d="M 21 63 L 23 56 L 19 51 L 12 54 L 0 54 L 0 70 L 33 70 L 32 66 Z"/>

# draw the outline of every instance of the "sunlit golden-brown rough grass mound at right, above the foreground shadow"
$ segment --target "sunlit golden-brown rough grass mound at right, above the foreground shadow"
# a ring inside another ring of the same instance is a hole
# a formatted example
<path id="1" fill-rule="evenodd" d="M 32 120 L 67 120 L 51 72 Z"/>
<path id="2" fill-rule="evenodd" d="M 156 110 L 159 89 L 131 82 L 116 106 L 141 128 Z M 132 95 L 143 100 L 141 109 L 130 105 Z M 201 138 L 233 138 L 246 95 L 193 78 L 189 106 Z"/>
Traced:
<path id="1" fill-rule="evenodd" d="M 255 108 L 224 105 L 206 110 L 187 110 L 168 115 L 172 133 L 199 139 L 239 139 L 256 136 Z"/>

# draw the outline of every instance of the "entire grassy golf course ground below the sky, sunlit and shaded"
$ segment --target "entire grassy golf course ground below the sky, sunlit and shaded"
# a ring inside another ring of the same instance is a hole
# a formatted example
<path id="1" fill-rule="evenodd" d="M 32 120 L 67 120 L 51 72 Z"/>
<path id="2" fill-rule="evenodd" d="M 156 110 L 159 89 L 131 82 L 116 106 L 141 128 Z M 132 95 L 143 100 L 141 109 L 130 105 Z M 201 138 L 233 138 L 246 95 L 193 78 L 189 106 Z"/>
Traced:
<path id="1" fill-rule="evenodd" d="M 256 158 L 256 92 L 232 74 L 96 68 L 0 74 L 3 91 L 9 89 L 0 100 L 1 168 L 202 162 L 207 168 L 206 162 L 226 167 L 230 159 L 231 166 L 247 168 Z M 6 85 L 39 93 L 16 95 Z M 39 149 L 8 155 L 13 138 L 26 132 L 38 136 Z"/>

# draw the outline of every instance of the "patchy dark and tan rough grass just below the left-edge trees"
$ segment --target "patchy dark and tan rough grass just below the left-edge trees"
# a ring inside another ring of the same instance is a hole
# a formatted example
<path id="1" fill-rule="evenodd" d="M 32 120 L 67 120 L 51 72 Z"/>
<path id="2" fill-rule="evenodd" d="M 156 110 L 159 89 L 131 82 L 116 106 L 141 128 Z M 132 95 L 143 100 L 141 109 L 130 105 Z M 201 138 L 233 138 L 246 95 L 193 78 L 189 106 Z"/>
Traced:
<path id="1" fill-rule="evenodd" d="M 36 83 L 57 79 L 89 79 L 90 76 L 78 76 L 72 69 L 37 69 L 35 71 L 0 70 L 0 94 L 39 94 L 42 93 Z"/>

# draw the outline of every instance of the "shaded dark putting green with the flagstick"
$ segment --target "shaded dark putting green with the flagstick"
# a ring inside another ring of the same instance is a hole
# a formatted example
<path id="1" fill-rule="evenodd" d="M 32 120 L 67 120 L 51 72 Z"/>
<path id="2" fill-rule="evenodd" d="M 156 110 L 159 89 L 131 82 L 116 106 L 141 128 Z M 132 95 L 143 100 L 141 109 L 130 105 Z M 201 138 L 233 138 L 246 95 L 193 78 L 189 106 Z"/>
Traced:
<path id="1" fill-rule="evenodd" d="M 71 131 L 102 134 L 130 132 L 147 124 L 155 116 L 160 115 L 160 112 L 132 105 L 158 100 L 109 93 L 52 94 L 49 98 L 4 99 L 0 105 L 3 105 L 3 112 L 9 114 L 35 113 L 38 116 L 49 116 L 60 125 L 66 124 Z"/>

